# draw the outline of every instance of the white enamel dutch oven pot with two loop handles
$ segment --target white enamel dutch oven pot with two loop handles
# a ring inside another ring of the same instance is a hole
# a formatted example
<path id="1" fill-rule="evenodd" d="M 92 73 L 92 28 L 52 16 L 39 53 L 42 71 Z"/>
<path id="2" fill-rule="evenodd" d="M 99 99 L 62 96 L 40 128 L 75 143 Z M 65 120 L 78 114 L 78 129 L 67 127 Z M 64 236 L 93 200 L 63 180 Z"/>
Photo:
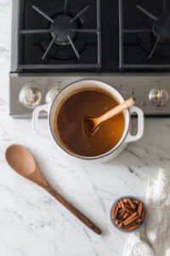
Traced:
<path id="1" fill-rule="evenodd" d="M 62 153 L 65 154 L 65 156 L 68 156 L 75 160 L 88 160 L 88 162 L 89 161 L 105 162 L 107 160 L 111 160 L 115 158 L 117 154 L 120 154 L 122 150 L 127 146 L 127 143 L 138 141 L 139 138 L 142 137 L 144 133 L 144 113 L 140 108 L 137 108 L 134 106 L 124 111 L 125 129 L 122 134 L 122 138 L 114 148 L 111 148 L 111 150 L 106 152 L 105 154 L 100 154 L 94 157 L 83 157 L 83 156 L 71 153 L 67 148 L 65 148 L 59 142 L 59 137 L 58 135 L 56 135 L 54 131 L 54 118 L 55 118 L 55 114 L 59 111 L 60 103 L 63 102 L 66 97 L 73 94 L 74 91 L 76 90 L 81 90 L 86 88 L 102 89 L 110 93 L 112 96 L 114 96 L 118 102 L 125 101 L 122 95 L 113 86 L 109 84 L 105 84 L 104 82 L 97 81 L 97 80 L 77 81 L 76 83 L 70 84 L 67 87 L 65 87 L 63 90 L 61 90 L 59 94 L 54 98 L 54 102 L 42 105 L 34 109 L 34 112 L 32 114 L 33 131 L 35 131 L 37 135 L 41 135 L 41 132 L 38 130 L 38 117 L 40 112 L 46 111 L 48 113 L 48 132 L 50 133 L 56 147 L 60 148 Z M 130 133 L 131 113 L 137 113 L 137 116 L 138 116 L 138 130 L 135 136 L 131 135 Z"/>

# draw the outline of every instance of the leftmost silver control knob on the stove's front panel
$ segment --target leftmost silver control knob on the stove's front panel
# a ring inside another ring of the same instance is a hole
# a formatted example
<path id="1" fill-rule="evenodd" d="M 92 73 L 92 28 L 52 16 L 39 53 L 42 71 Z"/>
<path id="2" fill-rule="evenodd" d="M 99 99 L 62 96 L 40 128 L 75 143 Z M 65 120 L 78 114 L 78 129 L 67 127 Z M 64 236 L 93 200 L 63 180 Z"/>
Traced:
<path id="1" fill-rule="evenodd" d="M 25 87 L 20 91 L 20 102 L 28 108 L 37 107 L 42 99 L 40 90 L 35 87 Z"/>

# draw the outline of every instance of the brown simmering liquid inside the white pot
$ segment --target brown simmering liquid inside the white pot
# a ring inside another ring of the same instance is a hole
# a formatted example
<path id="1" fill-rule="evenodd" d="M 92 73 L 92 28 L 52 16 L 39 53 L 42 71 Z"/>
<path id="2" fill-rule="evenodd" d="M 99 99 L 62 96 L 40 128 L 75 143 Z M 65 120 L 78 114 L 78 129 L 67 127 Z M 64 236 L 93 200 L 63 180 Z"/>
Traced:
<path id="1" fill-rule="evenodd" d="M 116 99 L 104 90 L 79 90 L 69 96 L 55 117 L 55 132 L 63 146 L 81 156 L 97 156 L 114 148 L 124 131 L 124 113 L 118 113 L 99 125 L 91 137 L 84 132 L 83 119 L 86 116 L 99 117 L 117 105 Z"/>

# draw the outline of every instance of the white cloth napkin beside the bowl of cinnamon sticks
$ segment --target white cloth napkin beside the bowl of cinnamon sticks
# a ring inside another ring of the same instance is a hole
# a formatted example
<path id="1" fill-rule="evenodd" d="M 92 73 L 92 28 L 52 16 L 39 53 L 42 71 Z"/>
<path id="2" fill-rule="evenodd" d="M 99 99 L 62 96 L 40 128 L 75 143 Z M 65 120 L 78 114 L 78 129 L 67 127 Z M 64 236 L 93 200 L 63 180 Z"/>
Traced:
<path id="1" fill-rule="evenodd" d="M 127 240 L 123 256 L 170 256 L 170 171 L 160 169 L 150 179 L 146 196 L 149 213 L 143 230 Z"/>

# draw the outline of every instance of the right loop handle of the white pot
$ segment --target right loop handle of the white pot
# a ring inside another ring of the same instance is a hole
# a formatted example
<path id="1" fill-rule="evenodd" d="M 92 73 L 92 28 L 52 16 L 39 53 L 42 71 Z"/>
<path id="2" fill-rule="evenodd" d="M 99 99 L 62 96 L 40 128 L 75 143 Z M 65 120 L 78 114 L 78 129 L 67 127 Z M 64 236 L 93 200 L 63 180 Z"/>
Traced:
<path id="1" fill-rule="evenodd" d="M 132 113 L 137 113 L 138 115 L 138 131 L 135 136 L 133 136 L 130 132 L 127 134 L 127 138 L 124 143 L 132 143 L 138 141 L 144 134 L 144 113 L 140 108 L 135 106 L 129 108 L 130 115 Z"/>

